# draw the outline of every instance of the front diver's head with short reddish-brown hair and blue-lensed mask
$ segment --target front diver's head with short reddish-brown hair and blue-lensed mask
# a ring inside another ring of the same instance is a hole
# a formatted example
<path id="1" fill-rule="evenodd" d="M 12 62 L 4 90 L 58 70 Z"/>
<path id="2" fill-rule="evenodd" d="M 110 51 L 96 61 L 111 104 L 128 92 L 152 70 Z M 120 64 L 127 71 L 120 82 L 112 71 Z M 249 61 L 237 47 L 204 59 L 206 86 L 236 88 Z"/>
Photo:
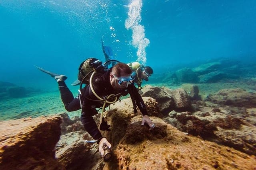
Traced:
<path id="1" fill-rule="evenodd" d="M 114 89 L 125 89 L 132 84 L 132 70 L 125 63 L 117 63 L 110 73 L 110 84 Z"/>

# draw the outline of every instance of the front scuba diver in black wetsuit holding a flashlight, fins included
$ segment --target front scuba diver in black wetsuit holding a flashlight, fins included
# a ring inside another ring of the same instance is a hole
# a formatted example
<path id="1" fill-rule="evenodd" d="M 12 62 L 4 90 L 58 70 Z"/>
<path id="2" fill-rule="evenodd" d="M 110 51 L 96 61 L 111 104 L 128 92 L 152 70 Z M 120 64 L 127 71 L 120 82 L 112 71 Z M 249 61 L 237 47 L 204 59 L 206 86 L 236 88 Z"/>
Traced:
<path id="1" fill-rule="evenodd" d="M 118 101 L 121 96 L 130 94 L 134 113 L 137 112 L 136 107 L 138 107 L 143 115 L 142 125 L 144 123 L 148 124 L 150 130 L 155 127 L 148 116 L 142 97 L 134 86 L 134 79 L 131 76 L 132 70 L 130 67 L 125 63 L 117 63 L 108 69 L 104 64 L 95 58 L 86 59 L 80 64 L 78 68 L 78 80 L 81 83 L 80 90 L 78 90 L 79 94 L 76 98 L 74 98 L 72 92 L 64 82 L 67 76 L 55 74 L 36 66 L 39 70 L 50 74 L 57 81 L 60 96 L 67 111 L 82 109 L 81 121 L 84 129 L 98 143 L 99 152 L 103 157 L 106 148 L 111 148 L 111 144 L 106 137 L 100 133 L 100 130 L 110 131 L 110 125 L 104 120 L 103 112 L 105 107 Z M 82 84 L 85 84 L 83 88 Z M 100 130 L 93 119 L 93 116 L 98 113 L 96 108 L 102 108 Z"/>

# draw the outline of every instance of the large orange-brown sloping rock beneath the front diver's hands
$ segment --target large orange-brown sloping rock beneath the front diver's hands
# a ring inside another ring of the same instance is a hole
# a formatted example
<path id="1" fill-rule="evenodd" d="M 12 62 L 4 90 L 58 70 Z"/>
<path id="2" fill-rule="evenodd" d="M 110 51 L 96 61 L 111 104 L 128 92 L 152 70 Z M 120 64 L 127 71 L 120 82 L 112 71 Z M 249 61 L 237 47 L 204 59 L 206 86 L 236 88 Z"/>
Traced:
<path id="1" fill-rule="evenodd" d="M 156 127 L 149 131 L 128 100 L 116 103 L 105 114 L 112 130 L 104 136 L 112 143 L 113 159 L 104 170 L 256 168 L 255 156 L 185 135 L 158 117 L 150 117 Z"/>

